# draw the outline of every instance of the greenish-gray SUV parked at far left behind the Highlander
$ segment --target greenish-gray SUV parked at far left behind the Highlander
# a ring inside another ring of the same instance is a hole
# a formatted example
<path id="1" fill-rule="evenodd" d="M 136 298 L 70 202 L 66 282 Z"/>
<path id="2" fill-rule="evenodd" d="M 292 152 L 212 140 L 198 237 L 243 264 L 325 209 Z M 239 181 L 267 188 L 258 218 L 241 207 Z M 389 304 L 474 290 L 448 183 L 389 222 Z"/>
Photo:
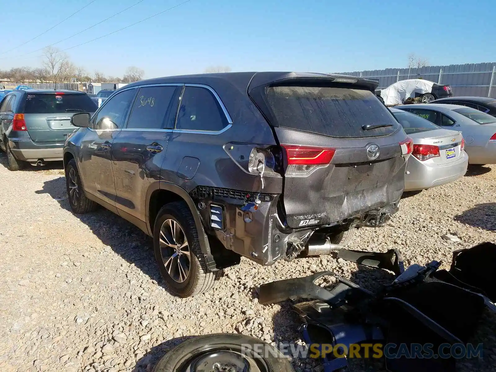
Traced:
<path id="1" fill-rule="evenodd" d="M 7 168 L 17 171 L 26 163 L 41 165 L 62 160 L 65 139 L 75 128 L 77 112 L 97 107 L 83 92 L 70 90 L 13 90 L 0 102 L 0 147 Z"/>

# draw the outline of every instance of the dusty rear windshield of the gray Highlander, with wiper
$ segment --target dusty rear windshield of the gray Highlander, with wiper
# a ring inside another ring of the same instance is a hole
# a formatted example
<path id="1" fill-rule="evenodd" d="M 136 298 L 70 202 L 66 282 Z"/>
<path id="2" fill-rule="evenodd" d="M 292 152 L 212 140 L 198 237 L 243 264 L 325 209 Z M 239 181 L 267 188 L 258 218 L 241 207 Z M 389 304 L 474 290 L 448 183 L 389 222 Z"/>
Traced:
<path id="1" fill-rule="evenodd" d="M 369 90 L 279 86 L 266 89 L 279 126 L 331 137 L 390 134 L 398 123 Z M 363 125 L 379 126 L 364 130 Z"/>

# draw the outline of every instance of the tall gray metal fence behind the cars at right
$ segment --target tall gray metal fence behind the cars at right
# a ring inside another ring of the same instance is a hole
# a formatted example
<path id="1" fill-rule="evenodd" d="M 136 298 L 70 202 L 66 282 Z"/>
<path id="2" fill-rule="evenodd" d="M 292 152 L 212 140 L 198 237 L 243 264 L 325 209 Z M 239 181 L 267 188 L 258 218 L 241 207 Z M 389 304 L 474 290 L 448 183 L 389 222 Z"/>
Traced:
<path id="1" fill-rule="evenodd" d="M 413 68 L 385 68 L 338 72 L 343 75 L 368 77 L 379 80 L 379 88 L 386 88 L 398 80 L 423 78 L 449 84 L 454 96 L 496 98 L 496 62 L 450 64 Z"/>

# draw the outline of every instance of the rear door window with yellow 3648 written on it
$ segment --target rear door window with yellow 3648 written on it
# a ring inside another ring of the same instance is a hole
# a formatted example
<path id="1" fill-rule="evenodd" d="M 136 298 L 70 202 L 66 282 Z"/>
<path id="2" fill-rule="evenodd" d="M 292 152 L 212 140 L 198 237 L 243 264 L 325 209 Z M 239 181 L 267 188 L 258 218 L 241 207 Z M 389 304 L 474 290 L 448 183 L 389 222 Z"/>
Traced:
<path id="1" fill-rule="evenodd" d="M 131 115 L 128 128 L 162 129 L 166 127 L 167 113 L 172 111 L 172 97 L 175 86 L 154 86 L 140 88 Z M 177 105 L 175 105 L 177 108 Z M 175 112 L 174 112 L 175 113 Z"/>

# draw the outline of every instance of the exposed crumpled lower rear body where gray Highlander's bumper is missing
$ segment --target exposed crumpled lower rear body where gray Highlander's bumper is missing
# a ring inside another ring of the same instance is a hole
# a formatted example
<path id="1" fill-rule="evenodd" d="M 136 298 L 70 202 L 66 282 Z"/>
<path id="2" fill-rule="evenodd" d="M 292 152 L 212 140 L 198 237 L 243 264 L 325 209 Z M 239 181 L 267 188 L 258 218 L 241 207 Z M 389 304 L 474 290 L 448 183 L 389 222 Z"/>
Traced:
<path id="1" fill-rule="evenodd" d="M 207 234 L 215 236 L 224 248 L 261 265 L 272 265 L 281 258 L 292 260 L 308 249 L 310 238 L 315 232 L 320 236 L 355 226 L 382 226 L 398 210 L 399 203 L 333 224 L 292 229 L 282 221 L 277 211 L 279 195 L 259 195 L 263 201 L 252 210 L 244 210 L 246 203 L 235 200 L 234 192 L 230 195 L 232 197 L 217 197 L 207 193 L 193 193 L 192 196 Z"/>

